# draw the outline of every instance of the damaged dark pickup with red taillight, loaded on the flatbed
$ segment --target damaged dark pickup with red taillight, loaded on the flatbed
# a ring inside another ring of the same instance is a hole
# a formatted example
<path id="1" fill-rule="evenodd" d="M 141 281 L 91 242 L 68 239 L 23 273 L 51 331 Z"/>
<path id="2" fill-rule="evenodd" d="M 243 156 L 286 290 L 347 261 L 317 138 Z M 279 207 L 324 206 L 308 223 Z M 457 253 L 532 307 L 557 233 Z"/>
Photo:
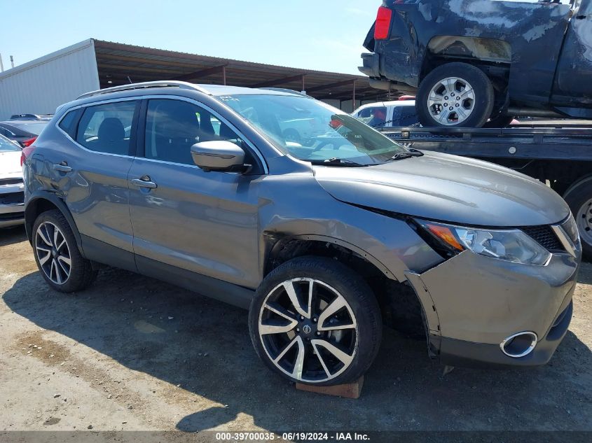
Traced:
<path id="1" fill-rule="evenodd" d="M 385 0 L 360 71 L 416 94 L 423 126 L 592 118 L 592 0 Z"/>

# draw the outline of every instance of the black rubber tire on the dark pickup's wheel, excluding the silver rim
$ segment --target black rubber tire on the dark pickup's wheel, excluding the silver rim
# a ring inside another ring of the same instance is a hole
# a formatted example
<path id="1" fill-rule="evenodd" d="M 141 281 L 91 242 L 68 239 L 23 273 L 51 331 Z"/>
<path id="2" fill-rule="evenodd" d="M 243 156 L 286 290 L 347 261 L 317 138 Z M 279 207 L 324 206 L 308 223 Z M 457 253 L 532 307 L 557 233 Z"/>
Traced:
<path id="1" fill-rule="evenodd" d="M 457 125 L 443 125 L 437 122 L 427 108 L 427 98 L 432 87 L 447 77 L 461 78 L 475 91 L 475 106 L 471 115 Z M 481 69 L 467 63 L 448 63 L 438 66 L 422 80 L 415 98 L 415 111 L 424 127 L 482 127 L 491 116 L 494 102 L 493 85 Z"/>

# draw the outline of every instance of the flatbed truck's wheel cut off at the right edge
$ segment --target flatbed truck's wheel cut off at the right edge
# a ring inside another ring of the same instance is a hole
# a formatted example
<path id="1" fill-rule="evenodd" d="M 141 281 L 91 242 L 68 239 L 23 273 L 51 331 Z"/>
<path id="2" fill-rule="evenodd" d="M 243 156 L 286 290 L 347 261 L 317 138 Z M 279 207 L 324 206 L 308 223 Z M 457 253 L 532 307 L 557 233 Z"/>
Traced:
<path id="1" fill-rule="evenodd" d="M 592 176 L 574 183 L 563 195 L 577 223 L 581 248 L 586 260 L 592 260 Z"/>

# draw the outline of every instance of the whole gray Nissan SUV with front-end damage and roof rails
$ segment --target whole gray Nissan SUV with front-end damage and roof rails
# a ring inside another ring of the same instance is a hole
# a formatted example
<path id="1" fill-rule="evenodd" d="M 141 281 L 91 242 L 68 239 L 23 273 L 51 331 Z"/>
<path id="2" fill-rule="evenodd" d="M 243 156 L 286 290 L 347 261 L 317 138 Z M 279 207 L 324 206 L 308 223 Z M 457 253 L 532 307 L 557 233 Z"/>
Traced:
<path id="1" fill-rule="evenodd" d="M 303 119 L 318 130 L 299 143 Z M 23 155 L 52 288 L 106 264 L 248 308 L 256 352 L 292 381 L 357 379 L 383 322 L 487 367 L 546 363 L 570 324 L 581 246 L 555 192 L 304 94 L 113 87 L 61 106 Z"/>

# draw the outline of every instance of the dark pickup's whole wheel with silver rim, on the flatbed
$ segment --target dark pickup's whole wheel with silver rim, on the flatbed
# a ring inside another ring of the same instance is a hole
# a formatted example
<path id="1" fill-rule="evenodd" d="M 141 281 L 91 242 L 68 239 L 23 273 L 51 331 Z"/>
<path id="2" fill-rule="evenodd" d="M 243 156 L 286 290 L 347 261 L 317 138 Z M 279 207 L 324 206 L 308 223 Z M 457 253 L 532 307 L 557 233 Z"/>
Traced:
<path id="1" fill-rule="evenodd" d="M 494 102 L 493 85 L 481 69 L 467 63 L 447 63 L 422 80 L 415 111 L 424 127 L 482 127 Z"/>

